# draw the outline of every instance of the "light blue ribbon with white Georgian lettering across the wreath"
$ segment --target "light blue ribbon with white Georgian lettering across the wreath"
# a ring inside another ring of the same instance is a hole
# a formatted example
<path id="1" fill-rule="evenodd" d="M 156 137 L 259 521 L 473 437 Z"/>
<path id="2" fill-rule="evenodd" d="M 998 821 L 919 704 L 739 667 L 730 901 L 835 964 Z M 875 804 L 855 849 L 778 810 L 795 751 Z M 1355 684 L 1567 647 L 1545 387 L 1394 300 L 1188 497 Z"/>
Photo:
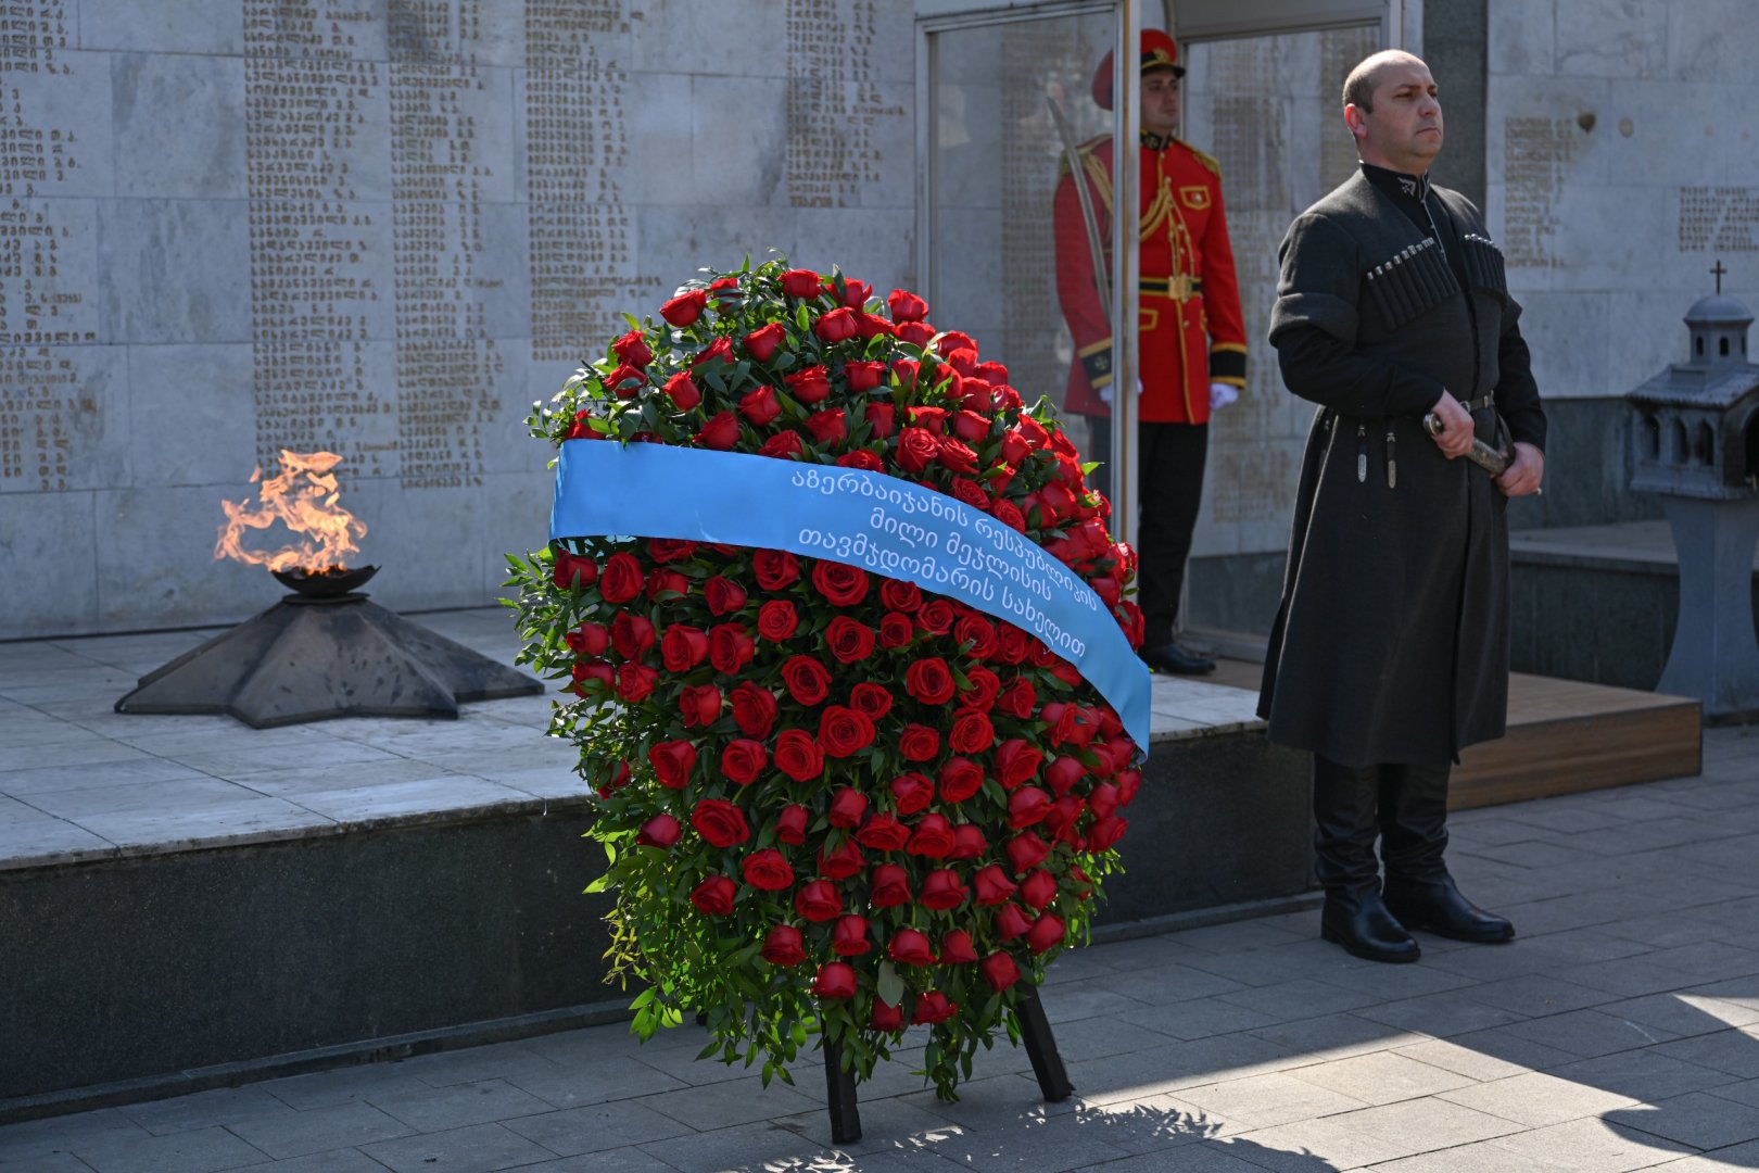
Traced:
<path id="1" fill-rule="evenodd" d="M 964 501 L 885 473 L 570 440 L 551 538 L 637 535 L 792 550 L 957 598 L 1068 659 L 1149 749 L 1149 670 L 1091 586 Z"/>

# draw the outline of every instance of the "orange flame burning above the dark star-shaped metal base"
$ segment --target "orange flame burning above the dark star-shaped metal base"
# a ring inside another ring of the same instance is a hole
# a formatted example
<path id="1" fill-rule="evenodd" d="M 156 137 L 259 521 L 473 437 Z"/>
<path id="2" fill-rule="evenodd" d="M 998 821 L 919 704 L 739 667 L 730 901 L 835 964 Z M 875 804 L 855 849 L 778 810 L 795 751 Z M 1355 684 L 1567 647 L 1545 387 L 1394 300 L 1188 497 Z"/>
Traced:
<path id="1" fill-rule="evenodd" d="M 262 468 L 250 475 L 252 484 L 262 482 L 257 489 L 259 506 L 252 506 L 248 499 L 220 501 L 227 521 L 220 526 L 215 559 L 234 557 L 250 566 L 304 568 L 310 573 L 345 570 L 343 554 L 361 550 L 355 540 L 366 536 L 366 522 L 336 505 L 339 491 L 331 470 L 338 464 L 341 457 L 334 452 L 299 454 L 281 448 L 280 477 L 262 480 Z M 267 529 L 274 522 L 304 540 L 274 552 L 246 550 L 241 545 L 246 529 Z"/>

